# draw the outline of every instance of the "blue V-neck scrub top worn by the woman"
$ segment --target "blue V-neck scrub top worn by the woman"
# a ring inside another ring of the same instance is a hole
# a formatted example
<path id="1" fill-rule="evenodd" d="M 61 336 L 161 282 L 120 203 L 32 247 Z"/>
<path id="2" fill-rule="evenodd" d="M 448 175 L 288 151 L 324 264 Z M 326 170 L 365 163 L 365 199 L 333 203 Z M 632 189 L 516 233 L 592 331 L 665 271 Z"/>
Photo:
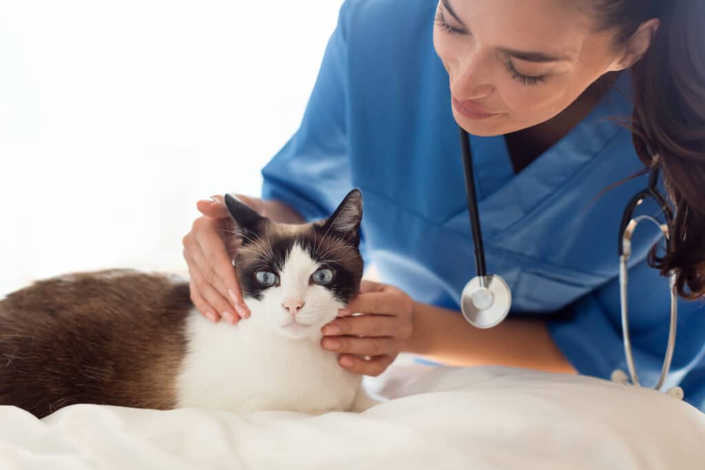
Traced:
<path id="1" fill-rule="evenodd" d="M 329 216 L 353 187 L 364 197 L 362 252 L 382 280 L 414 299 L 460 310 L 475 275 L 458 126 L 448 74 L 432 43 L 436 0 L 348 0 L 341 8 L 300 129 L 263 169 L 265 199 L 307 221 Z M 489 273 L 513 292 L 511 316 L 548 321 L 579 371 L 627 371 L 621 333 L 618 229 L 646 176 L 628 130 L 624 73 L 589 116 L 539 159 L 513 171 L 503 136 L 470 137 Z M 655 204 L 640 213 L 658 214 Z M 661 373 L 668 340 L 668 280 L 646 264 L 659 239 L 642 228 L 629 271 L 630 333 L 642 385 Z M 705 308 L 678 304 L 666 385 L 705 409 Z M 472 345 L 468 345 L 472 347 Z"/>

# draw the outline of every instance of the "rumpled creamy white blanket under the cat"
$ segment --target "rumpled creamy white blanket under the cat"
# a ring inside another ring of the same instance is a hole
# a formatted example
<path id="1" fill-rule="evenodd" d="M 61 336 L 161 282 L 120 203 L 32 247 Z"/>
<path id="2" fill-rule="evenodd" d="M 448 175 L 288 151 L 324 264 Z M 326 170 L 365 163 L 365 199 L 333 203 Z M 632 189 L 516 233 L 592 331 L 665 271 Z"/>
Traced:
<path id="1" fill-rule="evenodd" d="M 654 390 L 499 367 L 381 379 L 393 399 L 362 414 L 0 407 L 0 469 L 705 469 L 705 414 Z"/>

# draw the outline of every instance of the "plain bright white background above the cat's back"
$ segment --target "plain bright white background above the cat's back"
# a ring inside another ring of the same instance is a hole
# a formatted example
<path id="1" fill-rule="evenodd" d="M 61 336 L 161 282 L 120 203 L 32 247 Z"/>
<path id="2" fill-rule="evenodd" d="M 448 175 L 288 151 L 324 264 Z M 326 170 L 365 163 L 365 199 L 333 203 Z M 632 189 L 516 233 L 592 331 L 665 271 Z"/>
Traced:
<path id="1" fill-rule="evenodd" d="M 342 0 L 0 0 L 0 297 L 185 271 L 198 199 L 259 195 Z"/>

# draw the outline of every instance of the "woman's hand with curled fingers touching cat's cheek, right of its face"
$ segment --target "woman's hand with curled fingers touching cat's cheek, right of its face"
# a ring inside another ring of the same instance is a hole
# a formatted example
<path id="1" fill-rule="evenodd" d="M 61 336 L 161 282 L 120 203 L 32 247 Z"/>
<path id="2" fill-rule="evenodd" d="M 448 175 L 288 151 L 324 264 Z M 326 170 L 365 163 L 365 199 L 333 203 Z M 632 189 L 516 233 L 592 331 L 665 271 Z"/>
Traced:
<path id="1" fill-rule="evenodd" d="M 321 346 L 340 352 L 338 363 L 348 371 L 379 376 L 410 338 L 413 311 L 414 301 L 403 290 L 363 280 L 360 293 L 322 328 Z"/>

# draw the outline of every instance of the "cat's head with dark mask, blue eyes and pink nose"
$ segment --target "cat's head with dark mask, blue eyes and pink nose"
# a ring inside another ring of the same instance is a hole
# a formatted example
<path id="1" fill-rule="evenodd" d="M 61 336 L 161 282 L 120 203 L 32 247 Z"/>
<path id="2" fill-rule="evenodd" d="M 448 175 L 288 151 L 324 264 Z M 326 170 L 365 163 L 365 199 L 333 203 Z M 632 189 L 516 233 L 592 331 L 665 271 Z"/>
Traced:
<path id="1" fill-rule="evenodd" d="M 360 287 L 360 192 L 329 219 L 304 225 L 274 223 L 230 196 L 226 204 L 242 237 L 234 264 L 252 311 L 245 321 L 288 338 L 319 338 Z"/>

